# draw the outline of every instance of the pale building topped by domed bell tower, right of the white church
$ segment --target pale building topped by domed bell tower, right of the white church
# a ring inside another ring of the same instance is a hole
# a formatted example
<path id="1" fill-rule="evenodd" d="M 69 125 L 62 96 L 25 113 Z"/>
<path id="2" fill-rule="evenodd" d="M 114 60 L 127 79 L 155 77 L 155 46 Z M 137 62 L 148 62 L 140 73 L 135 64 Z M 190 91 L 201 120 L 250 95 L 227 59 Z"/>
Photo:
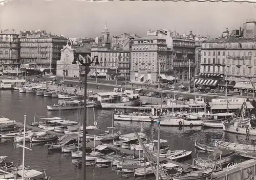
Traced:
<path id="1" fill-rule="evenodd" d="M 109 80 L 130 77 L 130 52 L 121 48 L 111 48 L 110 32 L 107 25 L 101 32 L 101 43 L 91 48 L 92 58 L 98 56 L 100 65 L 92 64 L 90 76 L 100 76 Z"/>

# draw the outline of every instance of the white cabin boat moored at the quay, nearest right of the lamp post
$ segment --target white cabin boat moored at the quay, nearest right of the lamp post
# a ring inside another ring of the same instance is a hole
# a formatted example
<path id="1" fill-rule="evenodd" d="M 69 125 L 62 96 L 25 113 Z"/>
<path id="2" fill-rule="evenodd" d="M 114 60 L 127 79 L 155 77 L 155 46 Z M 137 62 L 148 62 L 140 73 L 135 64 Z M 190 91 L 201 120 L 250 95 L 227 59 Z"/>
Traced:
<path id="1" fill-rule="evenodd" d="M 110 95 L 108 98 L 103 98 L 100 104 L 102 108 L 115 109 L 119 106 L 137 106 L 139 100 L 139 94 Z"/>

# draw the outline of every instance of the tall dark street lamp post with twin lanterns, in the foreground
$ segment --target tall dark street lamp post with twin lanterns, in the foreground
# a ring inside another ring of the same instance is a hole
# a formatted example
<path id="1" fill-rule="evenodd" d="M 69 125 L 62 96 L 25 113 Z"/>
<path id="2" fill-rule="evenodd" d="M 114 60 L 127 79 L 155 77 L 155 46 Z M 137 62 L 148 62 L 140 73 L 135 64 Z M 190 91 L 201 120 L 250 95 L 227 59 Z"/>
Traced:
<path id="1" fill-rule="evenodd" d="M 90 56 L 87 56 L 90 57 Z M 91 57 L 90 57 L 91 58 Z M 98 56 L 94 56 L 91 62 L 87 62 L 81 55 L 78 56 L 81 65 L 85 66 L 84 74 L 84 120 L 83 120 L 83 135 L 82 135 L 82 177 L 86 180 L 86 122 L 87 122 L 87 74 L 89 73 L 89 66 L 96 59 L 95 65 L 99 65 Z"/>

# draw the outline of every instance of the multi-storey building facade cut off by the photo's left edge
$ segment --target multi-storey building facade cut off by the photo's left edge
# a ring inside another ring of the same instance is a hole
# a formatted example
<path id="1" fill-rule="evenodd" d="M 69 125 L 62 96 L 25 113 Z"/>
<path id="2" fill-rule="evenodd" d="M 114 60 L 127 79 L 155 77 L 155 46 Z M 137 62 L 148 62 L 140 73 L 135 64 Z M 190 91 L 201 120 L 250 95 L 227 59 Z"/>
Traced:
<path id="1" fill-rule="evenodd" d="M 0 74 L 19 73 L 20 41 L 14 30 L 0 32 Z"/>

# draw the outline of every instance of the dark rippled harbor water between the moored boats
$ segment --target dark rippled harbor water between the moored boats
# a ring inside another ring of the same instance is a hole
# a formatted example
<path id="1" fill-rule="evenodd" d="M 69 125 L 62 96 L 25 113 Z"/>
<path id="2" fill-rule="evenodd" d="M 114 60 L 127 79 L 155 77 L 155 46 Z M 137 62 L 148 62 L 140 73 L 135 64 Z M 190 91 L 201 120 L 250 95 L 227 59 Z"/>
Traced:
<path id="1" fill-rule="evenodd" d="M 36 113 L 36 121 L 40 117 L 55 117 L 59 116 L 58 111 L 48 112 L 46 105 L 56 104 L 58 99 L 49 97 L 36 96 L 35 94 L 19 93 L 18 91 L 0 91 L 0 116 L 6 117 L 17 122 L 24 121 L 24 114 L 27 114 L 27 123 L 34 120 L 34 113 Z M 95 109 L 95 117 L 98 126 L 106 128 L 112 125 L 113 110 Z M 81 120 L 82 114 L 76 110 L 63 111 L 61 116 L 68 120 Z M 89 110 L 88 125 L 93 125 L 94 115 L 93 110 Z M 115 126 L 122 134 L 132 133 L 133 128 L 140 131 L 140 122 L 124 122 L 115 121 Z M 157 139 L 157 124 L 142 123 L 143 133 L 146 133 L 151 139 Z M 201 127 L 185 127 L 184 136 L 182 127 L 161 127 L 161 139 L 168 140 L 170 149 L 186 149 L 192 150 L 192 158 L 197 157 L 195 150 L 195 140 L 214 144 L 215 140 L 230 141 L 244 144 L 254 144 L 253 137 L 246 137 L 243 135 L 223 133 L 222 130 L 216 129 L 203 129 Z M 30 146 L 30 143 L 27 144 Z M 50 152 L 44 145 L 32 145 L 32 151 L 26 150 L 25 164 L 31 169 L 39 171 L 46 171 L 48 176 L 53 180 L 60 179 L 81 179 L 81 169 L 72 164 L 70 154 L 62 154 L 59 152 Z M 1 140 L 0 143 L 0 156 L 8 156 L 8 161 L 14 162 L 15 166 L 20 159 L 19 164 L 22 162 L 23 149 L 15 145 L 12 140 Z M 207 157 L 208 154 L 202 156 Z M 192 163 L 192 160 L 187 160 L 184 163 Z M 88 166 L 86 168 L 87 179 L 120 179 L 120 175 L 111 172 L 110 168 L 96 168 Z M 133 179 L 130 177 L 130 179 Z M 143 178 L 142 178 L 143 179 Z"/>

